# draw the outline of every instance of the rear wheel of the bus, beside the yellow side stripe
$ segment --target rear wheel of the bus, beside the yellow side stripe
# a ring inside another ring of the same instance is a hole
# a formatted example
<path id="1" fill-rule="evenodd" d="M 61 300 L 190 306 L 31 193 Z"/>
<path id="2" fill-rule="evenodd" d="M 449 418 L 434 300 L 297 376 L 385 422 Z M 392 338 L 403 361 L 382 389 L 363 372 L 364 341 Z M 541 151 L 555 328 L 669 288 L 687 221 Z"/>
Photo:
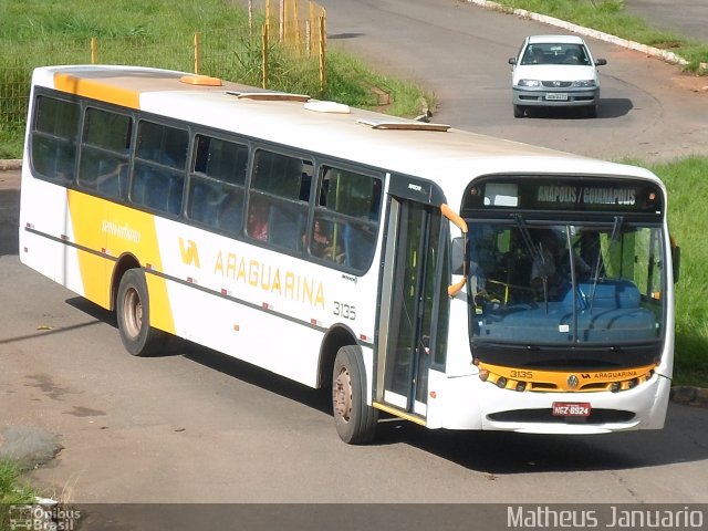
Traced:
<path id="1" fill-rule="evenodd" d="M 159 352 L 167 333 L 150 326 L 150 304 L 145 273 L 129 269 L 118 284 L 116 317 L 121 341 L 134 356 L 147 356 Z"/>

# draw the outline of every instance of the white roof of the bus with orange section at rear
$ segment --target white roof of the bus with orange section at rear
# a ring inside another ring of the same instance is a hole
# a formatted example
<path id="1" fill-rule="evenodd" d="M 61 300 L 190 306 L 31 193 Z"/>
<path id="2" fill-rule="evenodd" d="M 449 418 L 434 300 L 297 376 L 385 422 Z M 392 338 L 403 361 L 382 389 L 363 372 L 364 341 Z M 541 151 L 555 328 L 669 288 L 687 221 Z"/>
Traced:
<path id="1" fill-rule="evenodd" d="M 180 81 L 184 76 L 190 79 Z M 658 181 L 639 167 L 344 105 L 308 105 L 306 97 L 266 97 L 283 93 L 226 81 L 215 86 L 214 81 L 198 84 L 185 72 L 113 65 L 44 66 L 33 77 L 35 85 L 429 178 L 444 188 L 448 179 L 467 183 L 497 173 L 628 175 Z M 263 97 L 239 97 L 250 93 Z M 375 126 L 391 122 L 399 126 Z"/>

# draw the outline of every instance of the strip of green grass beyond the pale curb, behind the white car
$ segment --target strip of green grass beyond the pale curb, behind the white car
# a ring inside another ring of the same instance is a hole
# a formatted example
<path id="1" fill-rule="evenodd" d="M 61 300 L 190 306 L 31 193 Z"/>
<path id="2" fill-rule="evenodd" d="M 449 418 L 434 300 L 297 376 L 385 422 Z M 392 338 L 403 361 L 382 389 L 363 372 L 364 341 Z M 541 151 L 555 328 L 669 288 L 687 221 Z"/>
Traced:
<path id="1" fill-rule="evenodd" d="M 626 12 L 623 0 L 494 0 L 514 9 L 548 14 L 575 24 L 593 28 L 623 39 L 677 54 L 688 61 L 686 70 L 700 71 L 708 62 L 708 43 L 687 39 L 671 31 L 652 28 L 642 17 Z"/>

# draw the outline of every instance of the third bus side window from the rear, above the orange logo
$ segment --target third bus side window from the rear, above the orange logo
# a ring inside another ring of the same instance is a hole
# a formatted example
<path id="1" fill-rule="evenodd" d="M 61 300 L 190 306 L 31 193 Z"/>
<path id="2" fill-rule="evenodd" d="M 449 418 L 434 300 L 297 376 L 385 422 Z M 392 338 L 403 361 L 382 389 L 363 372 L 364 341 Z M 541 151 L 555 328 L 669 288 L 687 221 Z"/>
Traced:
<path id="1" fill-rule="evenodd" d="M 186 129 L 142 121 L 131 199 L 148 208 L 179 215 L 188 144 Z"/>

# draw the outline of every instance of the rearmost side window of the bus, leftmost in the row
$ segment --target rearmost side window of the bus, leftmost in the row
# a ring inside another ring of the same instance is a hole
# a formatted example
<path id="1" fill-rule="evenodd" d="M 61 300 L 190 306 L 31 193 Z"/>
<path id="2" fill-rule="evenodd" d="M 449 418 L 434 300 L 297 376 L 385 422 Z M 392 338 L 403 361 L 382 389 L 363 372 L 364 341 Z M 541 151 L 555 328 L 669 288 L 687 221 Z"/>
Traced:
<path id="1" fill-rule="evenodd" d="M 31 160 L 38 177 L 63 186 L 74 179 L 79 104 L 40 95 L 35 102 Z"/>

